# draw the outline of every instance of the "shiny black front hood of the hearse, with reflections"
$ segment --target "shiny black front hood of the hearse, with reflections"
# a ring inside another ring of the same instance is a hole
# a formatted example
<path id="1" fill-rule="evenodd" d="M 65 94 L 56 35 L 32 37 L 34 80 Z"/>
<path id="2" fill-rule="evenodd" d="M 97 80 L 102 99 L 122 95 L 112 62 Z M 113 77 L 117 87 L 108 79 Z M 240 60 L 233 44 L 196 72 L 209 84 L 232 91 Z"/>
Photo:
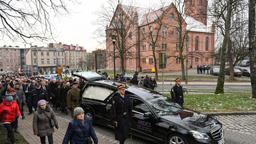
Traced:
<path id="1" fill-rule="evenodd" d="M 203 129 L 205 129 L 209 131 L 220 124 L 217 119 L 190 109 L 183 109 L 183 111 L 161 116 L 161 118 L 176 123 L 177 125 L 181 125 L 181 127 L 183 127 L 183 125 L 190 127 L 190 129 L 187 130 L 203 131 Z"/>

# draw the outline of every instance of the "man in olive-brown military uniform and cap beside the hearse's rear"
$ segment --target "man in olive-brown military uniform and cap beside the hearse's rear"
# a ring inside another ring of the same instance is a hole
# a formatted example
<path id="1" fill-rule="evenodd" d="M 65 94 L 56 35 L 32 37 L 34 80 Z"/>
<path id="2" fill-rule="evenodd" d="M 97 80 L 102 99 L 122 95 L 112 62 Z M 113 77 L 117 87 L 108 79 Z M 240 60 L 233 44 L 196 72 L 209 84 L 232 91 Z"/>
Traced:
<path id="1" fill-rule="evenodd" d="M 74 118 L 75 107 L 80 107 L 80 89 L 77 88 L 78 84 L 73 82 L 71 89 L 67 92 L 67 108 L 71 112 L 71 117 Z"/>

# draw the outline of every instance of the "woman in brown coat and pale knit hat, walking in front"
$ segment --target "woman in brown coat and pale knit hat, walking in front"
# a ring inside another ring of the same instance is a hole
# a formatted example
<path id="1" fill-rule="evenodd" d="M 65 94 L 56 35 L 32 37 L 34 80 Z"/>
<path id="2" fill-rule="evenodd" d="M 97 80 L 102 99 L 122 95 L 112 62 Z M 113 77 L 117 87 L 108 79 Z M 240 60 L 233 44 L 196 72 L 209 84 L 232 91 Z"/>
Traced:
<path id="1" fill-rule="evenodd" d="M 55 113 L 44 99 L 38 101 L 37 105 L 37 111 L 35 111 L 33 117 L 34 135 L 40 137 L 40 141 L 42 144 L 45 144 L 46 136 L 48 137 L 49 144 L 53 144 L 54 129 L 53 127 L 51 127 L 49 119 L 53 119 L 56 129 L 58 129 L 59 127 L 57 119 L 55 117 Z"/>

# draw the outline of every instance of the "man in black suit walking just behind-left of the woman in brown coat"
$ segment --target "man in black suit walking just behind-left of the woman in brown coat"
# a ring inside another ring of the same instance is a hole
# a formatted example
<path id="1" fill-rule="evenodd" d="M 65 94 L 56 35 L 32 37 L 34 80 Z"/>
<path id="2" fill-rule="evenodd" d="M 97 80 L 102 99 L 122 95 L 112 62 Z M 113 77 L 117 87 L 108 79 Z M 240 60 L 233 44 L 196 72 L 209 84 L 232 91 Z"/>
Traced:
<path id="1" fill-rule="evenodd" d="M 31 113 L 33 113 L 32 110 L 32 99 L 31 99 L 31 91 L 35 89 L 35 86 L 29 81 L 26 81 L 26 85 L 25 85 L 25 89 L 23 89 L 24 93 L 25 93 L 25 97 L 26 97 L 26 103 L 27 103 L 27 107 L 29 107 L 29 115 L 31 115 Z"/>

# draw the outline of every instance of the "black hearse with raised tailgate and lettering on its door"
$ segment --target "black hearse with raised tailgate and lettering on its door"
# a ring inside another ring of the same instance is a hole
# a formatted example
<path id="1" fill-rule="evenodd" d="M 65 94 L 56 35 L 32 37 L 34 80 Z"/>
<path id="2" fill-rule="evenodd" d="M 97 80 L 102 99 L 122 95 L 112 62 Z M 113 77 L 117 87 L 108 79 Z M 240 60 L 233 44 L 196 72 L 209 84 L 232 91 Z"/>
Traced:
<path id="1" fill-rule="evenodd" d="M 107 81 L 101 75 L 87 72 L 74 74 L 89 81 L 81 90 L 81 107 L 93 124 L 113 128 L 111 103 L 118 94 L 118 85 L 122 83 Z M 95 76 L 94 81 L 91 81 L 91 75 Z M 225 142 L 223 125 L 215 117 L 182 107 L 157 91 L 131 83 L 128 85 L 125 93 L 129 95 L 132 105 L 132 135 L 155 143 Z"/>

